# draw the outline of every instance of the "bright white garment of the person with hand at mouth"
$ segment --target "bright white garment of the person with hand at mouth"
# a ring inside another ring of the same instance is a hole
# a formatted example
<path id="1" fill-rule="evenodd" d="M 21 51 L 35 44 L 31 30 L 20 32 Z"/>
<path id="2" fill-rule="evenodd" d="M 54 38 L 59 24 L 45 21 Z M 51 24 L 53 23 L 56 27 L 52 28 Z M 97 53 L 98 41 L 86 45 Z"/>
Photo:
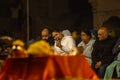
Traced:
<path id="1" fill-rule="evenodd" d="M 54 45 L 55 54 L 56 53 L 69 54 L 72 52 L 73 48 L 76 47 L 75 41 L 72 38 L 69 30 L 63 30 L 62 34 L 64 35 L 64 37 L 61 40 L 62 47 L 61 48 L 57 47 L 55 43 Z"/>

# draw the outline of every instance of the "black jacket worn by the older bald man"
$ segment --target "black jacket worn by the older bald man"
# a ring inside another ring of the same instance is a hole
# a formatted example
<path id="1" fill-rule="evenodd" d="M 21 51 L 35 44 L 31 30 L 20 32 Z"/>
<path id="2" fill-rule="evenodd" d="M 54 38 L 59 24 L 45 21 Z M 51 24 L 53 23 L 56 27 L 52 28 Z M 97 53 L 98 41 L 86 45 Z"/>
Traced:
<path id="1" fill-rule="evenodd" d="M 110 36 L 106 40 L 96 41 L 93 46 L 92 62 L 93 65 L 98 61 L 102 61 L 102 64 L 108 64 L 114 59 L 112 49 L 116 40 Z"/>

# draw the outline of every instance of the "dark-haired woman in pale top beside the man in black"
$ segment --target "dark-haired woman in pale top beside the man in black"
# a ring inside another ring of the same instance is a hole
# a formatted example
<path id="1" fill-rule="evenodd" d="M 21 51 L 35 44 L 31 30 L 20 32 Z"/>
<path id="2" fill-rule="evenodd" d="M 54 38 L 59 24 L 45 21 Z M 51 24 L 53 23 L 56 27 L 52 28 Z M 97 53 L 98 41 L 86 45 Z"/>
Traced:
<path id="1" fill-rule="evenodd" d="M 91 53 L 93 51 L 93 45 L 95 40 L 91 38 L 91 32 L 88 29 L 84 29 L 81 31 L 81 42 L 78 44 L 78 47 L 83 47 L 83 55 L 86 56 L 88 62 L 92 63 Z"/>

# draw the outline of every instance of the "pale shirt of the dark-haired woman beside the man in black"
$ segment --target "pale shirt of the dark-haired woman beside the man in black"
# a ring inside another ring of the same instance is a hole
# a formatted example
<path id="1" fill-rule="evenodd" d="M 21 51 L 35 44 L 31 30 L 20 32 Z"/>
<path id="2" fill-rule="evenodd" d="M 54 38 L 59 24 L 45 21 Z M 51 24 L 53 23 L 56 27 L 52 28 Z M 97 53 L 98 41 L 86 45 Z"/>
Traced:
<path id="1" fill-rule="evenodd" d="M 91 59 L 91 53 L 93 51 L 93 45 L 95 43 L 95 40 L 91 39 L 88 44 L 85 44 L 83 41 L 81 41 L 79 44 L 78 44 L 78 47 L 79 46 L 82 46 L 84 48 L 84 51 L 83 51 L 83 54 L 86 56 L 86 59 L 88 60 L 88 62 L 92 63 L 92 59 Z"/>

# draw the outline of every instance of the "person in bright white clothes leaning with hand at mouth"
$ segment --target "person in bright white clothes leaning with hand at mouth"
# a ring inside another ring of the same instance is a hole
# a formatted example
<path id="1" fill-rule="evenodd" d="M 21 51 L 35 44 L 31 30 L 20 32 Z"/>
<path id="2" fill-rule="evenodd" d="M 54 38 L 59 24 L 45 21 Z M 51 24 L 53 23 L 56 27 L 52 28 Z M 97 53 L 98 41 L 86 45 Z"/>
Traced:
<path id="1" fill-rule="evenodd" d="M 62 55 L 64 54 L 70 54 L 73 50 L 75 45 L 75 41 L 71 36 L 71 32 L 69 30 L 63 30 L 62 33 L 59 32 L 58 36 L 56 36 L 55 39 L 55 51 L 57 53 L 61 53 Z"/>

